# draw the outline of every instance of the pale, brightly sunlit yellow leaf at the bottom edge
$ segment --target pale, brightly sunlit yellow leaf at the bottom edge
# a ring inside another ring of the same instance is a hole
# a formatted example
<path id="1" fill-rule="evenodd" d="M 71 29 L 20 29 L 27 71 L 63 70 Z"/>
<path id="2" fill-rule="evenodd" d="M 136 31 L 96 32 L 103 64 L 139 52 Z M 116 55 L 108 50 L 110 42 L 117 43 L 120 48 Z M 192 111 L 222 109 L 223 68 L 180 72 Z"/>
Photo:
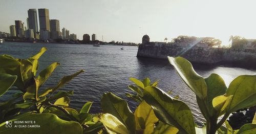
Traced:
<path id="1" fill-rule="evenodd" d="M 122 134 L 130 133 L 126 126 L 111 114 L 102 114 L 100 116 L 100 122 L 102 122 L 106 128 L 113 132 Z"/>

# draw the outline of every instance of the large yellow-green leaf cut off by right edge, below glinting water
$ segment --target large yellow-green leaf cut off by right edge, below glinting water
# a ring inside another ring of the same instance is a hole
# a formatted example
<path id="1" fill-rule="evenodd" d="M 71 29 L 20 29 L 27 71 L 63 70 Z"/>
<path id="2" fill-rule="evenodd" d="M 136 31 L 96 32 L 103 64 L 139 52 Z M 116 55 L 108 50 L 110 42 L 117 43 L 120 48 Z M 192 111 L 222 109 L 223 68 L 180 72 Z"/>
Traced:
<path id="1" fill-rule="evenodd" d="M 256 105 L 256 75 L 242 75 L 234 79 L 227 89 L 226 96 L 233 95 L 226 107 L 227 113 Z"/>

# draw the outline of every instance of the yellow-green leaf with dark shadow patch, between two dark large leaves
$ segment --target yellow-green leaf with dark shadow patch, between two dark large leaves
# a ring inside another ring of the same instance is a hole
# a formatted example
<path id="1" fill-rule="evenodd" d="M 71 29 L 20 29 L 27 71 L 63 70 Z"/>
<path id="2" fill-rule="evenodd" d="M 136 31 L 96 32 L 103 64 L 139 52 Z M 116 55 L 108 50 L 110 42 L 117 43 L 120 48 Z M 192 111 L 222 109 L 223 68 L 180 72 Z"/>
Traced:
<path id="1" fill-rule="evenodd" d="M 143 130 L 143 133 L 152 133 L 155 123 L 158 121 L 150 105 L 142 101 L 135 110 L 136 130 Z"/>

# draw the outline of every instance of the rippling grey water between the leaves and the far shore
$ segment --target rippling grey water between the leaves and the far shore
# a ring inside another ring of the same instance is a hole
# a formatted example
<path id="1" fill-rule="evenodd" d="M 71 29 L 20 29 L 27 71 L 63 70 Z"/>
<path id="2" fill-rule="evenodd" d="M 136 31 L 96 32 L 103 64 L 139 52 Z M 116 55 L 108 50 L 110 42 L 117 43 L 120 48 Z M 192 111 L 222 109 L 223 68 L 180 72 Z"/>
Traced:
<path id="1" fill-rule="evenodd" d="M 74 90 L 74 96 L 71 96 L 71 107 L 80 109 L 87 101 L 93 101 L 91 112 L 98 113 L 101 111 L 102 94 L 112 92 L 124 98 L 134 111 L 137 103 L 124 95 L 133 93 L 127 88 L 127 85 L 132 84 L 129 78 L 149 77 L 152 81 L 159 79 L 159 87 L 162 90 L 166 92 L 173 90 L 173 96 L 179 95 L 180 99 L 191 108 L 196 122 L 199 125 L 202 124 L 203 117 L 197 106 L 195 95 L 167 61 L 139 59 L 136 57 L 137 47 L 124 47 L 124 50 L 120 50 L 120 46 L 93 47 L 86 44 L 4 42 L 0 44 L 0 54 L 28 58 L 36 54 L 41 47 L 47 47 L 48 51 L 39 60 L 39 70 L 46 68 L 52 62 L 60 62 L 51 78 L 45 83 L 45 87 L 55 85 L 65 75 L 81 69 L 86 70 L 61 89 L 63 91 Z M 239 75 L 255 73 L 255 70 L 207 65 L 196 65 L 195 70 L 204 77 L 217 73 L 224 78 L 227 85 Z"/>

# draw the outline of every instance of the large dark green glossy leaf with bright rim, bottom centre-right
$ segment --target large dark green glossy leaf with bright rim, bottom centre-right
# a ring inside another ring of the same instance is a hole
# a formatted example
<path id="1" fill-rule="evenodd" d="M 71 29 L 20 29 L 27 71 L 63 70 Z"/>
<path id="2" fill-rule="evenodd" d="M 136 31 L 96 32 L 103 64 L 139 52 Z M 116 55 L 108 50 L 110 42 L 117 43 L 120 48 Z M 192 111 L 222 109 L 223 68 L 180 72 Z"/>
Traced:
<path id="1" fill-rule="evenodd" d="M 153 107 L 160 121 L 177 127 L 180 133 L 196 133 L 193 115 L 184 102 L 170 97 L 154 86 L 144 89 L 144 100 Z"/>

